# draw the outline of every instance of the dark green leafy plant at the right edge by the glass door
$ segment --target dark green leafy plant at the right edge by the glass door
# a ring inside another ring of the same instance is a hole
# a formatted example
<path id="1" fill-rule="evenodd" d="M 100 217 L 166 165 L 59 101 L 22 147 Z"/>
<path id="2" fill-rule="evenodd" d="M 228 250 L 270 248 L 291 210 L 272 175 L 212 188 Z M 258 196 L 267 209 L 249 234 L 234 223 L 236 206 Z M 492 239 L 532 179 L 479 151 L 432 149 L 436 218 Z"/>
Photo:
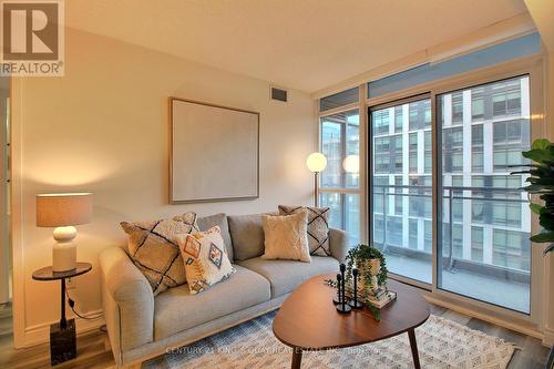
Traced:
<path id="1" fill-rule="evenodd" d="M 538 139 L 533 142 L 530 151 L 522 153 L 533 162 L 525 165 L 526 171 L 513 172 L 512 174 L 530 174 L 523 187 L 529 194 L 536 194 L 544 204 L 531 203 L 531 211 L 538 215 L 538 223 L 543 230 L 533 235 L 530 239 L 534 243 L 551 244 L 544 249 L 544 255 L 554 250 L 554 144 L 548 140 Z"/>

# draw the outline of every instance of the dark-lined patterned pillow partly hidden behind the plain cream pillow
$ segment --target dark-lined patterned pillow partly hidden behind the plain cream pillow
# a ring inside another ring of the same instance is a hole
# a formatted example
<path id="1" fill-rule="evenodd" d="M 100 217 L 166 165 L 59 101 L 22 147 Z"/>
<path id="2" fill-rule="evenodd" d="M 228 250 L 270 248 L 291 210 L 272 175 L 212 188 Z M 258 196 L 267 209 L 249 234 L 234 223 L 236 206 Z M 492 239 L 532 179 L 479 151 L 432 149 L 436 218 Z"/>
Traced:
<path id="1" fill-rule="evenodd" d="M 308 243 L 310 255 L 331 256 L 329 249 L 329 207 L 306 207 L 279 205 L 280 215 L 308 212 Z"/>

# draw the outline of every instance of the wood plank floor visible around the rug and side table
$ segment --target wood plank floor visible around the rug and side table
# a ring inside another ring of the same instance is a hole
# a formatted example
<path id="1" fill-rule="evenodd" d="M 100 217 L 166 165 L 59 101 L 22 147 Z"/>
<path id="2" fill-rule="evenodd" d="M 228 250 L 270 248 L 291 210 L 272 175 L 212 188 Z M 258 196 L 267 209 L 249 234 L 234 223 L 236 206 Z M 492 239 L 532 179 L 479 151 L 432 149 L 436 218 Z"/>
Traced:
<path id="1" fill-rule="evenodd" d="M 480 319 L 471 318 L 465 315 L 431 305 L 431 312 L 459 324 L 470 327 L 471 329 L 481 330 L 488 335 L 503 338 L 510 342 L 514 342 L 521 348 L 515 350 L 510 369 L 544 369 L 550 350 L 541 345 L 536 338 L 529 337 L 513 330 L 509 330 Z M 51 368 L 50 351 L 48 344 L 31 347 L 28 349 L 14 350 L 12 348 L 11 324 L 7 324 L 4 319 L 11 321 L 8 310 L 0 307 L 0 368 L 10 369 L 34 369 L 34 368 Z M 2 328 L 4 327 L 4 328 Z M 6 329 L 6 330 L 4 330 Z M 9 331 L 8 334 L 6 334 Z M 114 360 L 111 351 L 106 351 L 104 339 L 106 334 L 102 330 L 91 331 L 78 336 L 78 358 L 71 361 L 55 366 L 57 369 L 73 369 L 73 368 L 113 368 Z M 164 359 L 156 359 L 161 368 L 168 368 L 168 363 Z"/>

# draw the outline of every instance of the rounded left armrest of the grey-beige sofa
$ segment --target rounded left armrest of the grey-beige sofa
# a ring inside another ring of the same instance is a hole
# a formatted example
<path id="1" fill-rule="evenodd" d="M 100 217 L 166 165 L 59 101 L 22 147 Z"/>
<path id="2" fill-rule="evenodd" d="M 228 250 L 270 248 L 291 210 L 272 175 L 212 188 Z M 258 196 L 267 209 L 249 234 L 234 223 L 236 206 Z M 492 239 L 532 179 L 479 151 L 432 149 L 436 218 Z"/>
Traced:
<path id="1" fill-rule="evenodd" d="M 121 365 L 122 352 L 154 340 L 154 294 L 144 275 L 120 247 L 103 250 L 100 267 L 110 344 Z"/>

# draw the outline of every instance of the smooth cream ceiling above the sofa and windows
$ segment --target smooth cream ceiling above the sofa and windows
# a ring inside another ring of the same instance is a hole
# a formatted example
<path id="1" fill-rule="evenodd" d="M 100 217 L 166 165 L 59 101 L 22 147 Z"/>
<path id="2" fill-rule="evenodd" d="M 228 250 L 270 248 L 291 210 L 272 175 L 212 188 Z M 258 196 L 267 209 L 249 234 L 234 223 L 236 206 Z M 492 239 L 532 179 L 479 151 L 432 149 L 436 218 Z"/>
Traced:
<path id="1" fill-rule="evenodd" d="M 69 27 L 308 93 L 525 12 L 523 0 L 71 0 Z"/>

